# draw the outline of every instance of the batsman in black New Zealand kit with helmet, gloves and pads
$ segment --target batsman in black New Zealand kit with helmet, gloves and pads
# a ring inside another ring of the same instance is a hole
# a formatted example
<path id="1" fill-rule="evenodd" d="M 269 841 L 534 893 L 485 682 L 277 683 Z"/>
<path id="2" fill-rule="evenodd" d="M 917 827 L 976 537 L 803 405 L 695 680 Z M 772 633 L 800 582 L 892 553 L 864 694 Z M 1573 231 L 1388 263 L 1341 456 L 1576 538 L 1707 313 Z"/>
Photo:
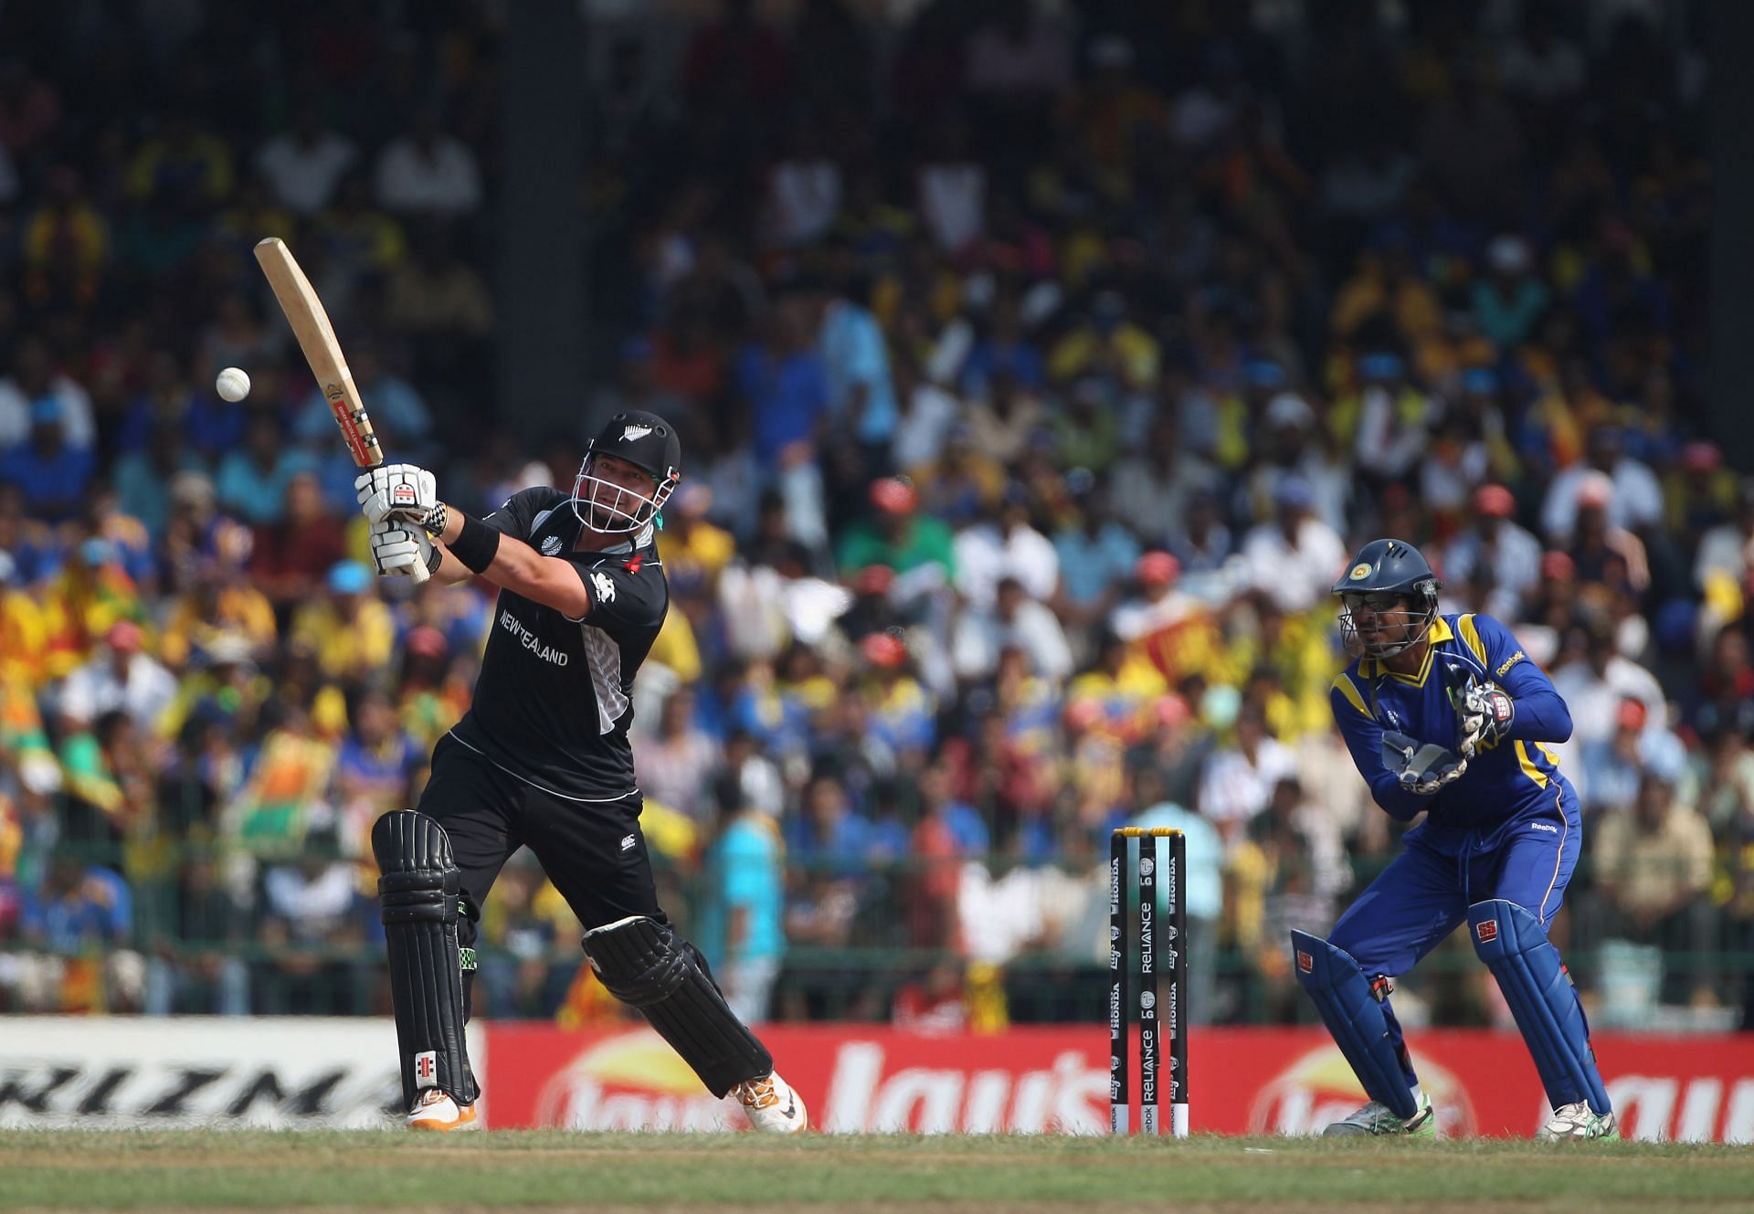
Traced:
<path id="1" fill-rule="evenodd" d="M 649 412 L 598 433 L 572 495 L 537 488 L 486 519 L 438 500 L 398 463 L 356 481 L 382 575 L 500 588 L 468 714 L 433 747 L 414 811 L 372 830 L 409 1126 L 475 1126 L 463 1023 L 481 905 L 528 844 L 579 921 L 603 986 L 644 1012 L 716 1096 L 758 1130 L 809 1125 L 766 1047 L 737 1019 L 695 946 L 658 907 L 633 782 L 633 675 L 670 591 L 652 542 L 682 444 Z"/>

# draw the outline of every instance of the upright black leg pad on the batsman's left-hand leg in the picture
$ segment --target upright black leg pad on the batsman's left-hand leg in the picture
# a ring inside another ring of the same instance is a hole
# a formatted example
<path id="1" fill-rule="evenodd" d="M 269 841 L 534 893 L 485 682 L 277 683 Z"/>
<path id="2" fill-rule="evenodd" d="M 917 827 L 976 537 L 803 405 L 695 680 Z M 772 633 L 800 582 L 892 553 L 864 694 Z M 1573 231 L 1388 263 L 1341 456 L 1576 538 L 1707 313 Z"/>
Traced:
<path id="1" fill-rule="evenodd" d="M 461 874 L 451 839 L 433 818 L 398 809 L 372 826 L 372 854 L 382 874 L 377 889 L 403 1107 L 424 1088 L 474 1103 L 481 1091 L 463 1035 Z"/>

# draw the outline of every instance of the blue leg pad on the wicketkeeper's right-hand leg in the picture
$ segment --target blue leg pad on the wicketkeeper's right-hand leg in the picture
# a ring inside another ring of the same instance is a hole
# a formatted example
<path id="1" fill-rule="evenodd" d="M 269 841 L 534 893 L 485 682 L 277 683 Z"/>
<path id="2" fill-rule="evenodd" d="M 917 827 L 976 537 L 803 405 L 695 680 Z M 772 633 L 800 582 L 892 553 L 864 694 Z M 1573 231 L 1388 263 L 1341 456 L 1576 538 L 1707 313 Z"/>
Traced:
<path id="1" fill-rule="evenodd" d="M 1542 921 L 1515 902 L 1489 898 L 1468 907 L 1468 937 L 1505 993 L 1552 1107 L 1584 1100 L 1596 1114 L 1610 1112 L 1584 1005 Z"/>

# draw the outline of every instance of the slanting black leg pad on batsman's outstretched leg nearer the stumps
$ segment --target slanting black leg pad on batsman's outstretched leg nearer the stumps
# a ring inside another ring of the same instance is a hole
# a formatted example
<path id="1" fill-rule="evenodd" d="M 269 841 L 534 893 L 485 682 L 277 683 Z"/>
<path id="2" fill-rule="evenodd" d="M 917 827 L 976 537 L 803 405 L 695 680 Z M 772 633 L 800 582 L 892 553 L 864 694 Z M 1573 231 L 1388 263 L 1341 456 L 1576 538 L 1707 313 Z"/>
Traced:
<path id="1" fill-rule="evenodd" d="M 584 933 L 603 988 L 638 1007 L 714 1096 L 774 1070 L 774 1056 L 707 977 L 693 946 L 668 923 L 631 916 Z"/>

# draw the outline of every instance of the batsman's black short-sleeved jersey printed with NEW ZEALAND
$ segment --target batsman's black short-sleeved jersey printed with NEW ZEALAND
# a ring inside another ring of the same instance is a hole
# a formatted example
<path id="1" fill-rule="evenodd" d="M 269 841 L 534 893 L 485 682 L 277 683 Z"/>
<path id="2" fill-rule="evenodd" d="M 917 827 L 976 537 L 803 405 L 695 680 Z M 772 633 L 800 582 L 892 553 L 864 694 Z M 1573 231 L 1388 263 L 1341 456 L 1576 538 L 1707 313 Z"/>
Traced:
<path id="1" fill-rule="evenodd" d="M 563 556 L 591 593 L 584 619 L 500 591 L 475 700 L 453 735 L 535 788 L 582 802 L 635 791 L 633 675 L 670 607 L 652 528 L 607 553 L 574 551 L 582 523 L 560 489 L 514 495 L 488 516 L 544 556 Z"/>

